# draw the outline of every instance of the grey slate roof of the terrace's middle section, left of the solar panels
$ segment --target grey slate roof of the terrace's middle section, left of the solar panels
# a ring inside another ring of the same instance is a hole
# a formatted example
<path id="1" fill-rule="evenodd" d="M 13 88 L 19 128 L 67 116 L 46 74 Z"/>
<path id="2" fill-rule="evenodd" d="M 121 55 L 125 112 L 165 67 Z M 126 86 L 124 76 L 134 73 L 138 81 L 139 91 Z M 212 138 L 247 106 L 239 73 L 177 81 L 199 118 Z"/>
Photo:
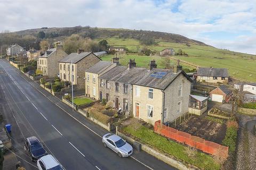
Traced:
<path id="1" fill-rule="evenodd" d="M 146 68 L 141 67 L 133 67 L 132 69 L 129 69 L 126 66 L 116 66 L 105 74 L 102 74 L 100 79 L 134 84 L 140 79 L 139 75 L 146 71 Z"/>

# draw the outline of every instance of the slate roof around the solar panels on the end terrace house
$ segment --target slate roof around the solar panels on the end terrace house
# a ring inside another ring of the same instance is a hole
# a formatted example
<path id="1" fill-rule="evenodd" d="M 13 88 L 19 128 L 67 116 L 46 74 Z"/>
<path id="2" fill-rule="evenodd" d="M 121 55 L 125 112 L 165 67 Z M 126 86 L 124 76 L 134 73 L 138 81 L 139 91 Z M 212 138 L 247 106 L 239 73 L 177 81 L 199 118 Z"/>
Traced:
<path id="1" fill-rule="evenodd" d="M 154 72 L 166 72 L 167 74 L 162 79 L 150 77 L 150 75 L 153 74 Z M 137 82 L 135 82 L 134 84 L 139 85 L 139 86 L 145 86 L 145 87 L 151 87 L 151 88 L 164 90 L 180 74 L 185 75 L 185 77 L 189 81 L 192 82 L 192 80 L 188 77 L 188 75 L 183 71 L 179 71 L 178 73 L 173 73 L 172 70 L 153 69 L 151 71 L 139 73 L 139 75 L 138 75 L 139 80 Z"/>

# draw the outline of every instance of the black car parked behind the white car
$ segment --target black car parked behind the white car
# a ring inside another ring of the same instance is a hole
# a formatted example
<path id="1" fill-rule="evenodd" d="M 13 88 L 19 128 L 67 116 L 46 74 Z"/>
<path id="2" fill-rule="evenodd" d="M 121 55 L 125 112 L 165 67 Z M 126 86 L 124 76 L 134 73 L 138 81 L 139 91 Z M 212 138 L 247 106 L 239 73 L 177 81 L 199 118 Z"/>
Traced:
<path id="1" fill-rule="evenodd" d="M 25 140 L 25 151 L 28 152 L 31 160 L 36 162 L 37 159 L 47 155 L 41 142 L 36 137 L 29 137 Z"/>

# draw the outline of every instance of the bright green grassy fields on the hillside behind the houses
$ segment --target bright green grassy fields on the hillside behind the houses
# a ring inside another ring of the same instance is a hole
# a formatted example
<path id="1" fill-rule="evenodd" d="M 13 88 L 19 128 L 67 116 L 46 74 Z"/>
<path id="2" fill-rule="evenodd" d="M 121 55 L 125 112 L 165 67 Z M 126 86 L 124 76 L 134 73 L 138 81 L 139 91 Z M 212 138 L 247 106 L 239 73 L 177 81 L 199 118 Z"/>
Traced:
<path id="1" fill-rule="evenodd" d="M 126 47 L 132 51 L 138 51 L 142 48 L 142 45 L 136 39 L 123 39 L 123 38 L 105 38 L 108 41 L 110 46 L 115 47 Z M 100 40 L 100 39 L 99 39 Z M 159 52 L 167 47 L 174 48 L 175 52 L 179 49 L 186 52 L 188 57 L 185 56 L 174 56 L 180 60 L 184 60 L 199 66 L 212 66 L 212 67 L 226 67 L 228 68 L 229 75 L 235 79 L 242 81 L 256 82 L 256 56 L 244 53 L 232 52 L 225 49 L 218 49 L 211 46 L 202 46 L 189 44 L 179 44 L 179 43 L 170 43 L 162 40 L 156 40 L 156 45 L 147 46 L 153 52 Z M 150 60 L 155 59 L 158 67 L 164 67 L 164 57 L 157 56 L 140 56 L 127 54 L 122 56 L 121 60 L 122 65 L 126 65 L 129 58 L 135 58 L 138 66 L 148 67 Z M 110 61 L 111 55 L 103 56 L 102 60 Z M 174 61 L 175 63 L 175 61 Z M 183 67 L 189 67 L 188 65 L 183 65 Z M 252 76 L 250 76 L 252 75 Z"/>

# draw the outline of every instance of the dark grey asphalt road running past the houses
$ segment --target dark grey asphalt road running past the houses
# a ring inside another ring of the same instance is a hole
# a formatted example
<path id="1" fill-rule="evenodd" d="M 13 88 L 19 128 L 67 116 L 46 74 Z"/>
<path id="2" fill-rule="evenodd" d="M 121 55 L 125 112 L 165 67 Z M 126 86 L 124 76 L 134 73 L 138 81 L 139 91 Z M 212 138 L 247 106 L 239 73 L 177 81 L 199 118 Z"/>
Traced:
<path id="1" fill-rule="evenodd" d="M 26 168 L 35 164 L 26 160 L 20 143 L 35 135 L 66 169 L 175 169 L 144 151 L 119 158 L 102 145 L 101 137 L 108 131 L 72 111 L 6 60 L 0 60 L 0 73 L 4 116 L 14 126 L 12 133 L 17 133 L 12 135 L 20 159 L 28 162 Z"/>

